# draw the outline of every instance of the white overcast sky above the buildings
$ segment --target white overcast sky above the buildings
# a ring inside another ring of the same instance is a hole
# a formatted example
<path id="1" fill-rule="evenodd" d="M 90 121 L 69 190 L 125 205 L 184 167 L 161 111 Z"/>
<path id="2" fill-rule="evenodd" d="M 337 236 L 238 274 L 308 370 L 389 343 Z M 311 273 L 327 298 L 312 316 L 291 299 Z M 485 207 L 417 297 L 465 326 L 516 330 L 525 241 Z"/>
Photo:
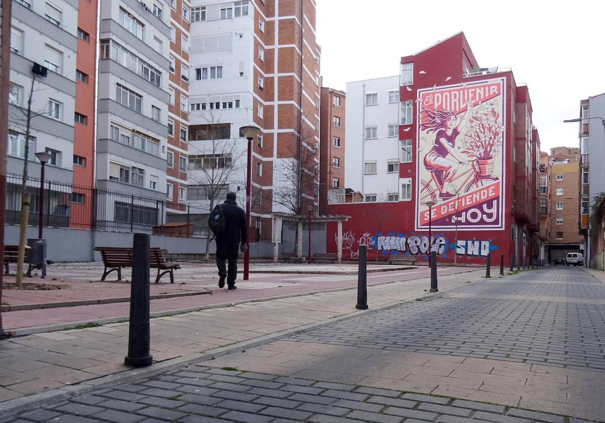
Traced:
<path id="1" fill-rule="evenodd" d="M 529 87 L 541 150 L 578 146 L 580 100 L 605 92 L 605 1 L 317 0 L 324 86 L 399 73 L 399 59 L 463 31 L 482 67 Z M 605 117 L 605 116 L 603 116 Z"/>

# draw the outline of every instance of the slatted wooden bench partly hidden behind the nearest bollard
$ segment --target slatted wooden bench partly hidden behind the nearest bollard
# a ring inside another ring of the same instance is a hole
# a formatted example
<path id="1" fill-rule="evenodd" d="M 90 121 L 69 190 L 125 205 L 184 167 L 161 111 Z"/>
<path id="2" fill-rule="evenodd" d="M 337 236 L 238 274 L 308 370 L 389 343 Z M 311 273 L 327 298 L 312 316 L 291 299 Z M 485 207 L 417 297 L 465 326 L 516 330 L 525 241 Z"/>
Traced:
<path id="1" fill-rule="evenodd" d="M 117 271 L 117 280 L 122 280 L 122 268 L 132 267 L 132 248 L 130 247 L 96 247 L 94 250 L 101 253 L 103 265 L 105 265 L 101 280 L 105 280 L 107 275 L 113 271 Z M 155 283 L 159 283 L 166 273 L 170 274 L 170 283 L 174 283 L 174 270 L 181 268 L 178 264 L 166 262 L 162 250 L 157 247 L 149 249 L 149 267 L 157 269 Z"/>

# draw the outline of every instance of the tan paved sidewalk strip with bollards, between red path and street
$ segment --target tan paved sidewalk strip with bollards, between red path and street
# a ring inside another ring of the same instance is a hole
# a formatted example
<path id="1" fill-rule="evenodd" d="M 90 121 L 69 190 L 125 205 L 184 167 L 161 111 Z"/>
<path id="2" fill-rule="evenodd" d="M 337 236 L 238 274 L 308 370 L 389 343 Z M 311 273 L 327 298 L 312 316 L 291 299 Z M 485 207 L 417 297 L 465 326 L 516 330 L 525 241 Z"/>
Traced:
<path id="1" fill-rule="evenodd" d="M 440 291 L 481 280 L 484 274 L 485 270 L 477 270 L 442 276 Z M 391 276 L 388 276 L 389 273 L 380 275 L 382 278 L 401 279 L 401 275 L 396 273 Z M 370 276 L 368 280 L 369 278 Z M 368 289 L 368 312 L 381 306 L 422 297 L 428 294 L 430 285 L 426 277 L 381 282 L 382 285 Z M 241 300 L 246 297 L 247 291 L 254 290 L 221 292 L 232 300 Z M 189 297 L 183 297 L 180 300 L 188 299 Z M 272 337 L 289 335 L 305 326 L 330 323 L 335 318 L 351 314 L 364 314 L 365 312 L 356 311 L 355 304 L 356 291 L 350 289 L 264 302 L 252 300 L 240 305 L 153 318 L 151 354 L 156 362 L 178 357 L 200 357 L 200 353 L 214 354 L 221 347 L 235 347 L 242 341 L 266 341 Z M 96 306 L 90 306 L 93 307 Z M 46 332 L 3 341 L 0 343 L 0 401 L 123 372 L 127 370 L 123 366 L 127 344 L 128 323 Z"/>

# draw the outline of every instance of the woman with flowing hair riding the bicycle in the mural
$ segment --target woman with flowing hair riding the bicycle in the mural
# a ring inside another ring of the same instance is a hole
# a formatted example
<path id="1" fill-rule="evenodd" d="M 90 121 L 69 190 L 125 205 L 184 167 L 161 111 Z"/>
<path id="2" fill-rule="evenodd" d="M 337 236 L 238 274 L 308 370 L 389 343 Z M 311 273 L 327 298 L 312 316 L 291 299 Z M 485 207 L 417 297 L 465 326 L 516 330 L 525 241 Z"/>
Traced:
<path id="1" fill-rule="evenodd" d="M 455 194 L 448 192 L 450 182 L 456 175 L 458 165 L 466 163 L 454 149 L 456 137 L 460 134 L 473 109 L 473 103 L 466 103 L 466 112 L 458 121 L 456 113 L 445 110 L 424 109 L 420 112 L 421 129 L 437 132 L 433 148 L 424 157 L 424 167 L 433 173 L 439 186 L 439 198 L 452 198 Z M 456 161 L 448 159 L 452 155 Z"/>

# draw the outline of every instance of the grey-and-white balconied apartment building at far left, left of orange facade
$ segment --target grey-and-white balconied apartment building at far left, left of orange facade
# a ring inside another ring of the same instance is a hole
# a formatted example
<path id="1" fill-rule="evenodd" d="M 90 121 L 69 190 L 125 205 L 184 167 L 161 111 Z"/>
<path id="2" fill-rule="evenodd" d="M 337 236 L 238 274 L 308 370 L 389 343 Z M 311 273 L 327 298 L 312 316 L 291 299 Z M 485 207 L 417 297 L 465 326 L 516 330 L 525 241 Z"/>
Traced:
<path id="1" fill-rule="evenodd" d="M 38 186 L 41 166 L 36 152 L 50 153 L 46 180 L 62 187 L 48 190 L 48 215 L 57 225 L 68 225 L 68 195 L 74 180 L 74 116 L 76 98 L 76 51 L 79 40 L 78 1 L 13 1 L 11 10 L 11 57 L 9 134 L 7 143 L 7 222 L 15 222 L 21 205 L 21 176 L 28 145 L 28 186 Z M 90 64 L 90 63 L 89 63 Z M 28 112 L 28 102 L 31 108 Z M 30 136 L 26 141 L 28 120 Z M 79 148 L 78 146 L 77 148 Z M 38 216 L 39 196 L 32 190 L 31 221 Z"/>

